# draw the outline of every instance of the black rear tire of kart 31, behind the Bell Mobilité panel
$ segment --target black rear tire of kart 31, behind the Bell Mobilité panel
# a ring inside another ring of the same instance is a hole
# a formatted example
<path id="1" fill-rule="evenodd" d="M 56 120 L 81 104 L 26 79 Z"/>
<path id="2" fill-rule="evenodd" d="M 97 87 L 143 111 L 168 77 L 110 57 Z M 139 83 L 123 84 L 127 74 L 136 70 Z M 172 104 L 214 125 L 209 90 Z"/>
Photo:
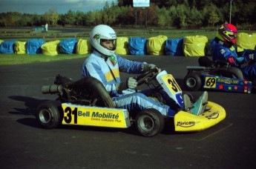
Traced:
<path id="1" fill-rule="evenodd" d="M 36 121 L 45 129 L 58 127 L 63 116 L 61 102 L 42 102 L 36 112 Z"/>

